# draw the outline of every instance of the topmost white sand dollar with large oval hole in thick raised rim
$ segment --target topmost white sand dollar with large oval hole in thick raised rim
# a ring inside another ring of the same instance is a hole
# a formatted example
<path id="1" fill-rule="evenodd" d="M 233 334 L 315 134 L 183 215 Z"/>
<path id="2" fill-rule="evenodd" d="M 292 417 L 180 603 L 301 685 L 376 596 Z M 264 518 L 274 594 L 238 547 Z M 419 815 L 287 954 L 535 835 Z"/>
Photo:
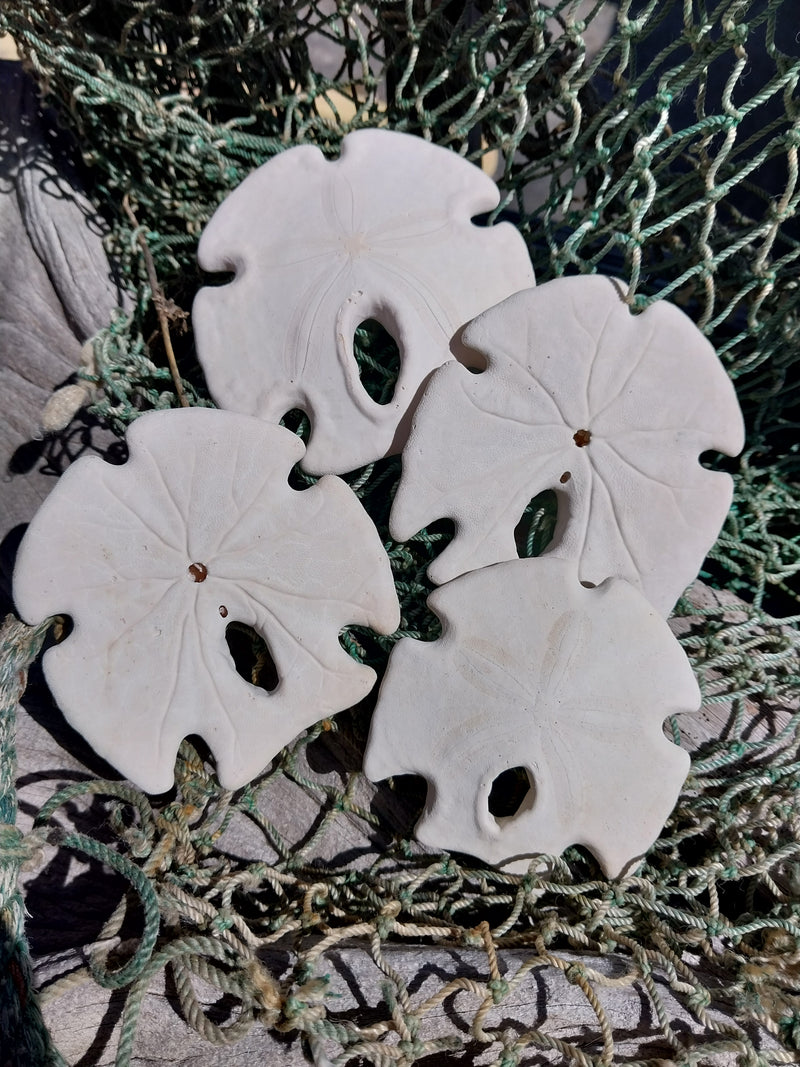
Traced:
<path id="1" fill-rule="evenodd" d="M 499 193 L 479 168 L 420 138 L 358 130 L 326 161 L 291 148 L 251 174 L 199 242 L 197 355 L 217 402 L 278 421 L 311 419 L 303 467 L 343 474 L 399 452 L 430 372 L 475 315 L 533 285 L 518 232 L 476 226 Z M 356 327 L 375 319 L 401 367 L 388 403 L 362 385 Z"/>

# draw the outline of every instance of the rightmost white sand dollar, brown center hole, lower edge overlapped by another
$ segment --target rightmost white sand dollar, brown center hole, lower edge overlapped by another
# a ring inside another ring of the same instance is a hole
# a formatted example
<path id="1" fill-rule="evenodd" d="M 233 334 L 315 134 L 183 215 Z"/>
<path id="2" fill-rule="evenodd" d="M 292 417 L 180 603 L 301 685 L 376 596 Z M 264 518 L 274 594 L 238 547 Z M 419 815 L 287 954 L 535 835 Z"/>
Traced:
<path id="1" fill-rule="evenodd" d="M 731 505 L 706 450 L 743 444 L 733 385 L 691 320 L 665 302 L 631 315 L 608 278 L 570 277 L 478 316 L 464 343 L 486 369 L 431 378 L 403 451 L 391 532 L 435 519 L 455 537 L 435 583 L 516 556 L 528 500 L 558 493 L 547 550 L 598 585 L 623 577 L 663 615 L 697 576 Z"/>

